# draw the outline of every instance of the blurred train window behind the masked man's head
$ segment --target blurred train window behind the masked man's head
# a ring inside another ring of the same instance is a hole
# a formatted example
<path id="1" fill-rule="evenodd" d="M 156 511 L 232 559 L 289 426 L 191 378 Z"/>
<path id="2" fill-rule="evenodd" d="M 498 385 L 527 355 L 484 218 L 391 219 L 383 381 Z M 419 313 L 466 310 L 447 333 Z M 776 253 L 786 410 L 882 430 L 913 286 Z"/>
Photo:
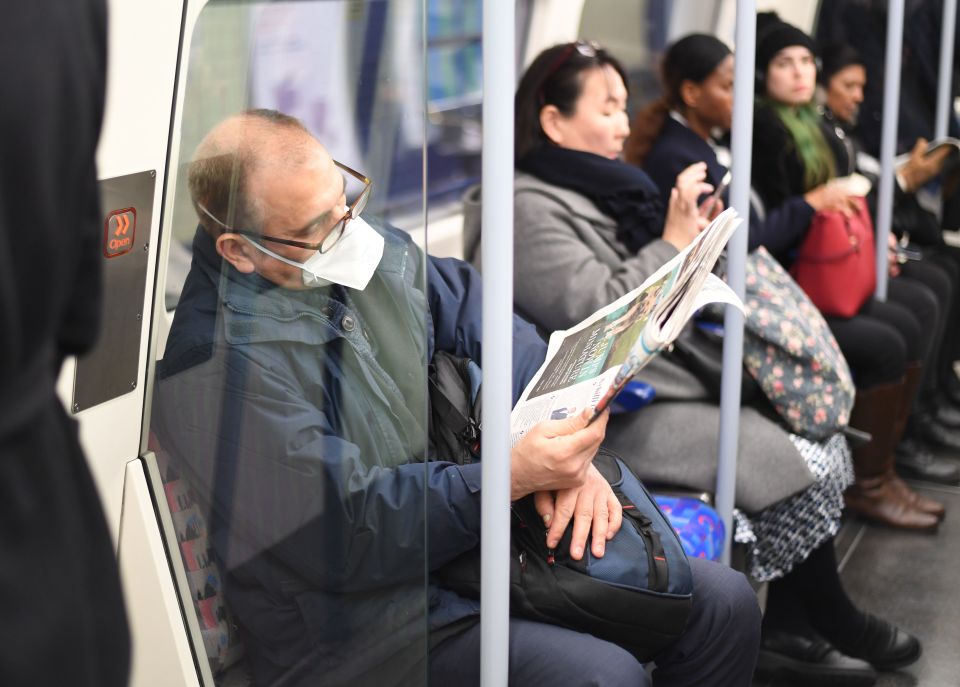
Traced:
<path id="1" fill-rule="evenodd" d="M 532 3 L 516 3 L 518 65 Z M 406 5 L 426 12 L 423 50 L 421 25 L 398 9 Z M 321 44 L 309 30 L 328 17 L 346 31 Z M 335 155 L 363 161 L 378 181 L 370 211 L 403 229 L 425 227 L 424 168 L 431 217 L 456 212 L 480 180 L 481 24 L 480 0 L 208 5 L 190 41 L 186 101 L 194 105 L 180 129 L 167 310 L 190 266 L 195 211 L 186 161 L 225 112 L 276 107 L 299 117 Z"/>

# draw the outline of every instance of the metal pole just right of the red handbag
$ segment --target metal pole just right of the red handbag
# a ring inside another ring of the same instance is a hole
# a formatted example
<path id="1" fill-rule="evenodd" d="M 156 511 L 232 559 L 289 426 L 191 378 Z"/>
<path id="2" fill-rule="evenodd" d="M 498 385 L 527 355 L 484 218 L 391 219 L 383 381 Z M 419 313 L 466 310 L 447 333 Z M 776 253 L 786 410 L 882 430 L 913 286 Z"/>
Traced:
<path id="1" fill-rule="evenodd" d="M 887 300 L 887 240 L 893 223 L 893 158 L 900 120 L 900 58 L 903 53 L 903 0 L 887 3 L 887 56 L 883 72 L 883 128 L 880 138 L 880 193 L 877 198 L 878 301 Z"/>

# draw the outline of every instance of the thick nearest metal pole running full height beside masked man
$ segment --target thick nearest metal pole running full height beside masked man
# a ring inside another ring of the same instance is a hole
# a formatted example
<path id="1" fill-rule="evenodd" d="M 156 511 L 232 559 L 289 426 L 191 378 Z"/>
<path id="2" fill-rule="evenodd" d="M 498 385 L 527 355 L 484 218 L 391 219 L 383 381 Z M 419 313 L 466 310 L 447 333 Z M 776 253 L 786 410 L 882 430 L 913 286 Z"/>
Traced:
<path id="1" fill-rule="evenodd" d="M 483 461 L 480 684 L 507 684 L 510 631 L 510 407 L 513 389 L 513 90 L 511 0 L 483 3 Z M 487 536 L 487 535 L 490 536 Z"/>

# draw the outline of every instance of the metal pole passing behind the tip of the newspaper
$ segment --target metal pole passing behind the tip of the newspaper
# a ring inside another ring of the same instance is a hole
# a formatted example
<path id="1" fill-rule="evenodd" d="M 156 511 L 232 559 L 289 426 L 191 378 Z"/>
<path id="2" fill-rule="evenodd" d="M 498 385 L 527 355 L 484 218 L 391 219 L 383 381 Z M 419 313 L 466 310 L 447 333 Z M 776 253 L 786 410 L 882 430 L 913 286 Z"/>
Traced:
<path id="1" fill-rule="evenodd" d="M 734 39 L 737 58 L 733 80 L 733 162 L 730 168 L 733 178 L 730 183 L 730 205 L 743 217 L 743 224 L 727 244 L 727 282 L 736 294 L 743 298 L 747 232 L 750 230 L 754 53 L 757 43 L 757 10 L 754 0 L 737 0 L 737 28 Z M 729 565 L 740 438 L 740 378 L 743 374 L 743 315 L 736 308 L 727 308 L 723 331 L 716 504 L 720 517 L 727 523 L 722 560 Z"/>

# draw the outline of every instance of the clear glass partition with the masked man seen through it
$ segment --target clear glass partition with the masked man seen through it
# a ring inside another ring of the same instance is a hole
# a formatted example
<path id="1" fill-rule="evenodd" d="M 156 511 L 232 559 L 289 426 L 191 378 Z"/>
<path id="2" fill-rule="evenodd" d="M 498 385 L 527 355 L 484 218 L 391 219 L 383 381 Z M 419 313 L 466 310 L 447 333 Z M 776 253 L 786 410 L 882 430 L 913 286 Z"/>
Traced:
<path id="1" fill-rule="evenodd" d="M 210 2 L 188 27 L 150 447 L 217 683 L 426 682 L 425 258 L 382 226 L 425 224 L 426 91 L 476 105 L 478 7 Z"/>

